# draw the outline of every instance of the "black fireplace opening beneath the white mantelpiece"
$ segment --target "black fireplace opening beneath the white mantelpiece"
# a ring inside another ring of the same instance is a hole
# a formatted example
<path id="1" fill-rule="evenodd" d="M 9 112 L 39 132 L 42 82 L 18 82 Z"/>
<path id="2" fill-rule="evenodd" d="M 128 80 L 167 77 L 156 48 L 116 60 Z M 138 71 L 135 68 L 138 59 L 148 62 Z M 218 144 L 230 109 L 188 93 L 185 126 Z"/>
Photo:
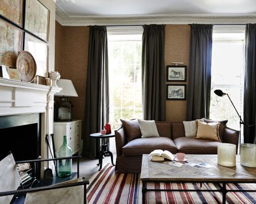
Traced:
<path id="1" fill-rule="evenodd" d="M 15 161 L 38 159 L 41 155 L 41 114 L 0 117 L 0 159 L 9 152 Z M 36 175 L 39 167 L 36 167 Z"/>

